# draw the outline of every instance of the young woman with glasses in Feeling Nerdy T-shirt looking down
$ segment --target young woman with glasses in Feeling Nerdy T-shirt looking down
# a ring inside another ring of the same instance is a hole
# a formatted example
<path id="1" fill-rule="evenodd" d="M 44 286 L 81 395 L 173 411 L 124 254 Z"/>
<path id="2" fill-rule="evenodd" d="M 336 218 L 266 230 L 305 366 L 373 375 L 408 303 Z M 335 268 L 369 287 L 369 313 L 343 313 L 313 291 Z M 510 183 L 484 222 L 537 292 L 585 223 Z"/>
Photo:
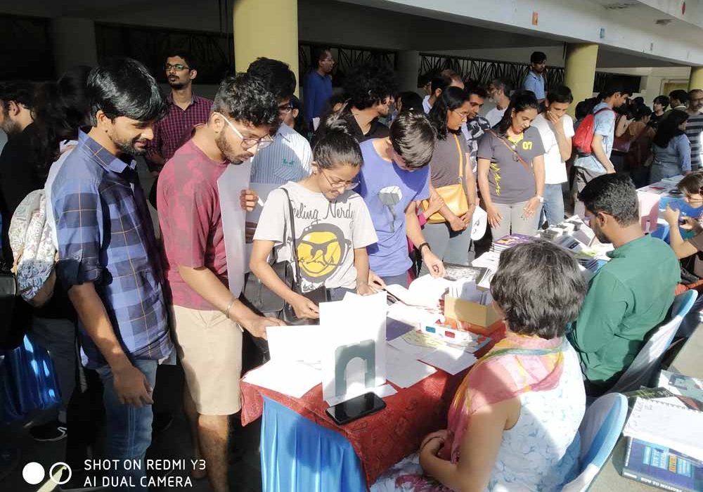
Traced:
<path id="1" fill-rule="evenodd" d="M 298 318 L 319 318 L 318 306 L 276 275 L 268 261 L 274 248 L 278 261 L 294 264 L 303 292 L 324 286 L 333 301 L 346 292 L 375 292 L 368 283 L 366 247 L 376 242 L 376 232 L 363 198 L 353 191 L 361 164 L 359 143 L 334 122 L 315 145 L 311 176 L 286 183 L 266 200 L 250 268 Z"/>

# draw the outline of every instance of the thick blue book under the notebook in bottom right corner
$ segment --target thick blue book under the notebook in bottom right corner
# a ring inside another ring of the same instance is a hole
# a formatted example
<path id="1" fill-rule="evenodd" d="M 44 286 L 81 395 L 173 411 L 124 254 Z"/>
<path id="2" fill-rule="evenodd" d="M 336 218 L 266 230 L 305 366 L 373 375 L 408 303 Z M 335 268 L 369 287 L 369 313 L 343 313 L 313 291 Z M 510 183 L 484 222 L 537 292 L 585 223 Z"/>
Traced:
<path id="1" fill-rule="evenodd" d="M 667 491 L 703 491 L 703 462 L 632 437 L 627 439 L 622 476 Z"/>

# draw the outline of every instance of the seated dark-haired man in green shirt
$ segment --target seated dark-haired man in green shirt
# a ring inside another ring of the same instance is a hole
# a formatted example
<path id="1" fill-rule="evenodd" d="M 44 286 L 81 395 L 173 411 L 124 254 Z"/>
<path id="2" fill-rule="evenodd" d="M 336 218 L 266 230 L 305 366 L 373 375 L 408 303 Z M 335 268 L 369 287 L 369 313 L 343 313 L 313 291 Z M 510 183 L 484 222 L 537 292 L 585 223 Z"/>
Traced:
<path id="1" fill-rule="evenodd" d="M 664 320 L 681 270 L 669 245 L 643 234 L 637 192 L 627 176 L 598 176 L 579 199 L 595 236 L 615 247 L 591 279 L 568 335 L 581 358 L 586 392 L 595 395 L 617 382 L 647 333 Z"/>

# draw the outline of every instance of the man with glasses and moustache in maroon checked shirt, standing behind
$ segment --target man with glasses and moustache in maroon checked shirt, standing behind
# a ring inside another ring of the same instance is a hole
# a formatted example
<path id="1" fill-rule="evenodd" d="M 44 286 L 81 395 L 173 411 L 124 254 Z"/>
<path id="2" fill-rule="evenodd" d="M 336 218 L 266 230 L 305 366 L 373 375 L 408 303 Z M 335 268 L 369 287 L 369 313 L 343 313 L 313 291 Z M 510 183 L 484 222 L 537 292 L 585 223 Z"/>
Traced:
<path id="1" fill-rule="evenodd" d="M 207 122 L 212 101 L 193 94 L 193 80 L 198 77 L 198 65 L 190 53 L 174 51 L 164 65 L 171 86 L 167 97 L 168 114 L 154 126 L 154 138 L 148 145 L 146 161 L 157 174 L 176 149 L 188 139 L 196 124 Z M 154 200 L 152 200 L 153 202 Z"/>

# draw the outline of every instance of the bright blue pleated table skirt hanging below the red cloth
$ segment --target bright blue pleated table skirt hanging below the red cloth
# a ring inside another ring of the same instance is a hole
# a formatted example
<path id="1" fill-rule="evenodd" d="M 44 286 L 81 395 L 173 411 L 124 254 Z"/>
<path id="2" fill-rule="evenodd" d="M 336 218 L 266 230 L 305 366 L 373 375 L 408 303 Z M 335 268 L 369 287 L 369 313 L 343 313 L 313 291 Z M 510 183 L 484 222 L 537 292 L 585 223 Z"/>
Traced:
<path id="1" fill-rule="evenodd" d="M 352 444 L 264 396 L 264 492 L 365 492 L 366 480 Z"/>

